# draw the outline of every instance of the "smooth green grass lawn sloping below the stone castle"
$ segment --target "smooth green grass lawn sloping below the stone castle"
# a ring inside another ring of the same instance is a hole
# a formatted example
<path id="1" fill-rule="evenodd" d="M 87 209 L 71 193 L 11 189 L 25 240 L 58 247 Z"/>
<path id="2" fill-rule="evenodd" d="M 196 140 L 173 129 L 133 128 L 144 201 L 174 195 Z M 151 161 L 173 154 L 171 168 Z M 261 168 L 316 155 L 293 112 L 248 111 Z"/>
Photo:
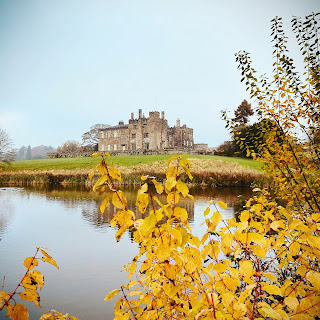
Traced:
<path id="1" fill-rule="evenodd" d="M 137 164 L 148 164 L 161 160 L 168 160 L 172 155 L 140 155 L 140 156 L 114 156 L 112 161 L 119 166 L 134 166 Z M 232 158 L 209 155 L 191 155 L 190 158 L 214 159 L 229 162 L 237 162 L 244 167 L 260 169 L 261 163 L 251 159 Z M 100 160 L 98 158 L 59 158 L 59 159 L 39 159 L 13 161 L 10 166 L 6 166 L 6 171 L 19 170 L 73 170 L 93 168 Z"/>

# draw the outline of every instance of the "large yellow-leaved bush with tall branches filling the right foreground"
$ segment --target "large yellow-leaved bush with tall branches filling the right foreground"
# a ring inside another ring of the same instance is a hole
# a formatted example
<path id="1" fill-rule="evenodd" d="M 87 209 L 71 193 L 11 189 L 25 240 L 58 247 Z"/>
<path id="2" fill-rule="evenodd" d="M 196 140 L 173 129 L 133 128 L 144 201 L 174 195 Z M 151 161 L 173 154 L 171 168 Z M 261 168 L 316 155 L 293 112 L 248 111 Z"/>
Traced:
<path id="1" fill-rule="evenodd" d="M 274 125 L 263 132 L 263 146 L 243 146 L 263 161 L 269 190 L 254 189 L 239 215 L 223 220 L 223 202 L 211 201 L 204 212 L 206 232 L 192 233 L 181 197 L 191 197 L 184 157 L 168 161 L 164 187 L 142 176 L 137 207 L 143 219 L 127 208 L 113 180 L 121 173 L 108 154 L 96 167 L 101 177 L 94 189 L 107 192 L 118 208 L 112 226 L 119 241 L 126 229 L 134 232 L 139 252 L 124 268 L 129 282 L 111 291 L 120 294 L 115 319 L 318 319 L 320 310 L 320 171 L 319 51 L 317 15 L 305 22 L 294 18 L 293 29 L 303 47 L 305 84 L 287 56 L 281 18 L 272 21 L 275 46 L 274 79 L 255 77 L 249 54 L 237 61 L 260 119 Z M 307 36 L 308 35 L 308 36 Z M 313 45 L 315 44 L 315 45 Z M 232 122 L 229 123 L 232 128 Z M 301 131 L 299 133 L 299 130 Z M 92 173 L 92 175 L 94 172 Z M 182 181 L 183 180 L 183 181 Z M 165 193 L 162 203 L 157 194 Z"/>

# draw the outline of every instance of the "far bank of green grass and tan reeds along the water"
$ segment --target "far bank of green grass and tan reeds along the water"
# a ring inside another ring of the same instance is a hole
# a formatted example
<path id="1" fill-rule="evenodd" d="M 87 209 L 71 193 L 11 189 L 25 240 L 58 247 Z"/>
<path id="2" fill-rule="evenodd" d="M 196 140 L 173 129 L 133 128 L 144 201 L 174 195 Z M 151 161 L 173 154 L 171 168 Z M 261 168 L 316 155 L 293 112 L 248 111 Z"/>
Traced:
<path id="1" fill-rule="evenodd" d="M 196 156 L 190 158 L 193 180 L 190 182 L 187 178 L 185 179 L 190 186 L 246 187 L 263 179 L 263 173 L 259 170 L 260 163 L 258 162 L 239 159 L 242 160 L 242 164 L 240 164 L 241 162 L 236 162 L 238 158 L 228 158 L 229 161 L 225 161 L 226 157 L 213 157 Z M 118 158 L 121 159 L 113 157 L 112 160 L 122 173 L 122 184 L 124 185 L 140 184 L 141 175 L 155 176 L 158 181 L 165 179 L 167 169 L 167 161 L 165 160 L 155 161 L 157 158 L 153 156 Z M 158 158 L 160 157 L 158 156 Z M 161 158 L 166 157 L 162 156 Z M 223 158 L 223 160 L 217 160 L 216 158 Z M 88 174 L 98 161 L 99 159 L 96 158 L 77 158 L 13 162 L 10 170 L 7 169 L 0 173 L 0 184 L 90 185 L 92 182 L 89 180 Z M 21 162 L 25 163 L 23 167 Z"/>

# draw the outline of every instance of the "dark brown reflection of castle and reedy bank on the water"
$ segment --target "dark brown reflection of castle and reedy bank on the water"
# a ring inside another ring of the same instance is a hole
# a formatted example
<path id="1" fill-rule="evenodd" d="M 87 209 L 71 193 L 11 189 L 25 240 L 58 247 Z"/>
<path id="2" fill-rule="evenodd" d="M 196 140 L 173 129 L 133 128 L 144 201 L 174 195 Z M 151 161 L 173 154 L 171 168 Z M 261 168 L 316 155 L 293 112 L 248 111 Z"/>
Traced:
<path id="1" fill-rule="evenodd" d="M 107 231 L 110 228 L 110 221 L 115 215 L 117 209 L 113 205 L 109 205 L 104 213 L 100 212 L 100 204 L 104 197 L 99 196 L 98 193 L 93 192 L 91 188 L 86 187 L 70 187 L 60 186 L 58 188 L 37 188 L 29 187 L 27 192 L 37 192 L 46 196 L 49 202 L 59 202 L 63 204 L 66 209 L 81 208 L 83 219 L 88 222 L 92 227 L 99 229 L 99 231 Z M 136 219 L 143 218 L 136 207 L 137 187 L 122 188 L 127 201 L 128 209 L 132 210 Z M 194 200 L 189 198 L 180 198 L 179 206 L 187 210 L 189 215 L 189 223 L 193 225 L 195 204 L 207 205 L 210 200 L 222 200 L 229 206 L 229 210 L 236 212 L 240 208 L 239 195 L 248 199 L 251 196 L 249 188 L 215 188 L 215 189 L 191 189 L 190 194 L 194 196 Z M 166 195 L 158 195 L 162 203 L 166 203 Z M 149 204 L 150 206 L 150 204 Z M 156 208 L 157 204 L 155 204 Z M 146 211 L 146 213 L 148 210 Z"/>

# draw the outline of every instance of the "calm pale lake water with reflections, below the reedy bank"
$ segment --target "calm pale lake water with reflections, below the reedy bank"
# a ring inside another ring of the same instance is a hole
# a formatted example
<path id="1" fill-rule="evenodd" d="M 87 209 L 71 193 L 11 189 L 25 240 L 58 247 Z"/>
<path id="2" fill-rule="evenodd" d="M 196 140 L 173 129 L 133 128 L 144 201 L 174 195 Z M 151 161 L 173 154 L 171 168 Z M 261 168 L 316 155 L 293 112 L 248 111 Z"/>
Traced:
<path id="1" fill-rule="evenodd" d="M 124 190 L 128 206 L 136 212 L 136 189 Z M 234 216 L 239 207 L 238 196 L 250 197 L 250 189 L 215 188 L 191 190 L 194 200 L 183 200 L 181 206 L 189 213 L 189 223 L 196 235 L 204 226 L 203 211 L 208 201 L 222 200 L 228 204 L 221 210 L 224 218 Z M 123 265 L 131 261 L 138 250 L 132 234 L 126 232 L 116 242 L 116 228 L 110 226 L 113 206 L 99 212 L 102 201 L 86 188 L 26 187 L 0 188 L 0 281 L 5 276 L 4 291 L 12 291 L 25 273 L 23 261 L 33 256 L 36 247 L 50 249 L 59 270 L 47 263 L 36 268 L 45 277 L 40 294 L 42 308 L 24 301 L 30 320 L 45 311 L 56 309 L 79 319 L 113 319 L 111 302 L 106 294 L 127 283 Z M 16 300 L 19 301 L 19 298 Z M 5 318 L 5 312 L 0 312 Z"/>

